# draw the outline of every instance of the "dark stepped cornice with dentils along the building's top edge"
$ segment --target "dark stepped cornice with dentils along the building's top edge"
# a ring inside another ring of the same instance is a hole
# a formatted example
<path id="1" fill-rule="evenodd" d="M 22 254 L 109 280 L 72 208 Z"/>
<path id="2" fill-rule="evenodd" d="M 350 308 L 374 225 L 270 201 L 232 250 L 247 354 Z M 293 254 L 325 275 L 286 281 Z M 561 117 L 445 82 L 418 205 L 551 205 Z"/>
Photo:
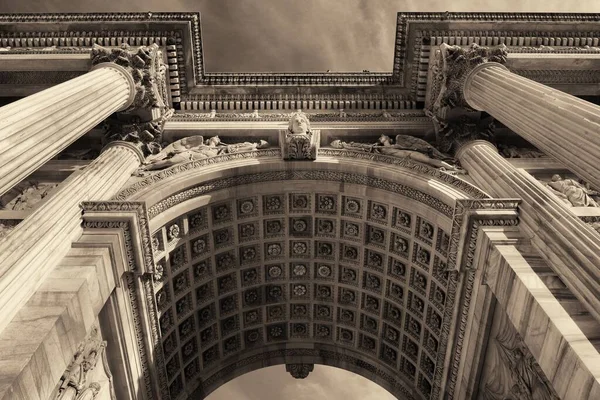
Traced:
<path id="1" fill-rule="evenodd" d="M 168 12 L 3 14 L 0 15 L 0 46 L 11 47 L 11 52 L 27 49 L 35 54 L 82 53 L 94 43 L 103 46 L 156 43 L 166 49 L 172 98 L 174 103 L 179 103 L 189 100 L 194 86 L 230 85 L 348 88 L 391 85 L 408 89 L 408 93 L 403 92 L 407 100 L 423 101 L 425 88 L 421 81 L 427 71 L 430 47 L 438 41 L 450 45 L 494 46 L 506 42 L 506 38 L 514 38 L 515 43 L 506 45 L 509 52 L 515 53 L 539 52 L 536 47 L 540 45 L 552 46 L 552 51 L 557 53 L 594 52 L 594 49 L 578 50 L 577 47 L 596 47 L 600 43 L 600 34 L 594 25 L 600 21 L 600 14 L 400 12 L 391 73 L 207 73 L 200 19 L 199 13 Z M 497 28 L 478 30 L 483 27 L 480 23 L 487 22 Z M 466 24 L 472 24 L 473 28 L 465 29 Z M 45 50 L 52 46 L 57 48 Z"/>

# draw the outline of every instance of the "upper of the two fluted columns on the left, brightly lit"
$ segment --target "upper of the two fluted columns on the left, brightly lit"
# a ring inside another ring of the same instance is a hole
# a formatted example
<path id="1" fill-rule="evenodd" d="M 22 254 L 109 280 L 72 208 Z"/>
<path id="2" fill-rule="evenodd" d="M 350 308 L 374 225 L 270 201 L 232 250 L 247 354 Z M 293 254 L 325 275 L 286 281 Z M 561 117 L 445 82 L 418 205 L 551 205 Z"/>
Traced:
<path id="1" fill-rule="evenodd" d="M 134 100 L 131 74 L 114 63 L 0 108 L 0 195 Z"/>

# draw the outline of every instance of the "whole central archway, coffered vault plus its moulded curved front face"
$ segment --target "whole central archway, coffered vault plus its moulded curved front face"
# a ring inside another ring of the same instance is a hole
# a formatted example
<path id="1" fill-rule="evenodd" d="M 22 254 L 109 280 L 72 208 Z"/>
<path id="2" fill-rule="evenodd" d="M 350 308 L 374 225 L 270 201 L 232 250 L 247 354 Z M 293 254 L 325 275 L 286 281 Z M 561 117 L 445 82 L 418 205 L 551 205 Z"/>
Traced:
<path id="1" fill-rule="evenodd" d="M 463 306 L 465 275 L 447 266 L 454 209 L 485 193 L 409 160 L 255 153 L 182 165 L 117 196 L 148 207 L 171 397 L 284 363 L 436 397 Z"/>

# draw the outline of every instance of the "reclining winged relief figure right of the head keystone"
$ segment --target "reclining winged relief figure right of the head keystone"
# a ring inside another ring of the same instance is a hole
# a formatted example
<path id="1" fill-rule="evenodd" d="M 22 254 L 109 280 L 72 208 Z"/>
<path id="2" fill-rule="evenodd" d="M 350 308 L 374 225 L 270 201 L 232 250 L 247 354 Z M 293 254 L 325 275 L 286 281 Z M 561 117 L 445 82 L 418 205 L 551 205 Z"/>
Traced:
<path id="1" fill-rule="evenodd" d="M 463 172 L 461 169 L 450 164 L 453 160 L 452 157 L 440 152 L 425 140 L 413 136 L 397 135 L 395 144 L 392 143 L 389 136 L 381 135 L 378 142 L 375 144 L 347 143 L 342 142 L 341 140 L 334 140 L 330 145 L 331 147 L 338 149 L 366 151 L 369 153 L 379 153 L 394 157 L 407 157 L 414 161 L 431 165 L 435 168 L 442 168 L 449 172 Z"/>

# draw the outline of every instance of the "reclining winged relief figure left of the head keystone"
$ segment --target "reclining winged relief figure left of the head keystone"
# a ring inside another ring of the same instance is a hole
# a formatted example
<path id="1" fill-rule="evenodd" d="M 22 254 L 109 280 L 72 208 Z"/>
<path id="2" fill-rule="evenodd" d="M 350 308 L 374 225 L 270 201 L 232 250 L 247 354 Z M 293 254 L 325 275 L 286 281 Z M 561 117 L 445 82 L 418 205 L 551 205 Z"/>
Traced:
<path id="1" fill-rule="evenodd" d="M 243 151 L 262 149 L 269 144 L 261 140 L 259 143 L 225 144 L 218 136 L 204 140 L 203 136 L 189 136 L 171 143 L 158 154 L 146 158 L 141 171 L 165 169 L 189 161 L 202 160 L 220 154 L 233 154 Z"/>

